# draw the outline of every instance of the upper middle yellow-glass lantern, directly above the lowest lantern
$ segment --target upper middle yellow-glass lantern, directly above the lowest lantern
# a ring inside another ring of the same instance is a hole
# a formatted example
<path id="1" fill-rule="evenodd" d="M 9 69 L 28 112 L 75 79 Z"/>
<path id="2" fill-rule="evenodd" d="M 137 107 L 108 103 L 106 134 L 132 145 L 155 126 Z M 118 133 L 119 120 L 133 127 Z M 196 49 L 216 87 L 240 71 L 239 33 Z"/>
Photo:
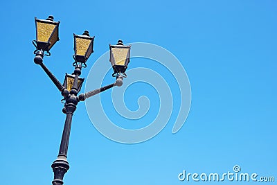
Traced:
<path id="1" fill-rule="evenodd" d="M 85 64 L 93 53 L 93 41 L 94 37 L 89 37 L 89 32 L 87 30 L 84 31 L 82 35 L 74 35 L 74 51 L 75 55 L 73 58 L 75 60 L 75 64 L 82 63 L 84 67 L 87 65 Z"/>

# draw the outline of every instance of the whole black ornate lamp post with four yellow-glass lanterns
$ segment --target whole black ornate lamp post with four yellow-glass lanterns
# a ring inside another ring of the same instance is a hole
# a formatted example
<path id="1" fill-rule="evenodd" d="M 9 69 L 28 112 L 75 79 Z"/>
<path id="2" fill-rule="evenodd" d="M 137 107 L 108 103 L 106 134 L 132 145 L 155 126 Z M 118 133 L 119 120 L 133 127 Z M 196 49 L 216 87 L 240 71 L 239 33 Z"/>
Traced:
<path id="1" fill-rule="evenodd" d="M 49 71 L 49 69 L 44 65 L 43 58 L 44 55 L 50 56 L 49 52 L 53 45 L 59 40 L 59 24 L 60 21 L 54 21 L 53 16 L 49 16 L 48 19 L 37 19 L 35 17 L 36 25 L 36 39 L 33 41 L 33 44 L 36 48 L 34 51 L 35 64 L 39 64 L 42 69 L 46 72 L 48 77 L 52 80 L 54 85 L 59 91 L 61 91 L 64 108 L 62 112 L 66 114 L 66 119 L 64 123 L 64 130 L 62 132 L 62 141 L 60 143 L 60 150 L 57 155 L 57 159 L 53 162 L 51 167 L 54 172 L 53 185 L 62 185 L 64 174 L 69 170 L 69 162 L 67 161 L 67 150 L 69 146 L 69 135 L 71 130 L 72 116 L 77 108 L 77 105 L 80 101 L 84 101 L 86 98 L 94 96 L 102 91 L 110 89 L 111 87 L 123 85 L 123 77 L 127 77 L 125 71 L 127 65 L 129 64 L 129 53 L 131 46 L 124 46 L 122 40 L 118 40 L 118 44 L 109 45 L 110 49 L 110 62 L 114 69 L 112 76 L 116 77 L 116 82 L 89 91 L 85 94 L 80 94 L 80 89 L 84 78 L 80 78 L 82 68 L 87 67 L 87 60 L 91 53 L 93 53 L 93 41 L 94 37 L 90 37 L 87 30 L 84 31 L 82 35 L 75 35 L 74 37 L 74 55 L 73 55 L 73 66 L 75 67 L 72 74 L 67 74 L 64 78 L 63 85 L 60 83 L 57 78 Z"/>

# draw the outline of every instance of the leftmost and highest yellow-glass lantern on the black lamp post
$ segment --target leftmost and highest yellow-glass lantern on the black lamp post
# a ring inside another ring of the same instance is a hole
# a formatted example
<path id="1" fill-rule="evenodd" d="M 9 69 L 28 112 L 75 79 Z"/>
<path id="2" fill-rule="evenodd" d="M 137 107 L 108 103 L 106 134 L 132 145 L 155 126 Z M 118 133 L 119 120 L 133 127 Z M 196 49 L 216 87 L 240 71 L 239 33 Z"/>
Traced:
<path id="1" fill-rule="evenodd" d="M 34 42 L 37 50 L 49 53 L 49 50 L 59 40 L 59 24 L 60 21 L 55 22 L 51 15 L 46 20 L 35 17 L 37 38 Z"/>

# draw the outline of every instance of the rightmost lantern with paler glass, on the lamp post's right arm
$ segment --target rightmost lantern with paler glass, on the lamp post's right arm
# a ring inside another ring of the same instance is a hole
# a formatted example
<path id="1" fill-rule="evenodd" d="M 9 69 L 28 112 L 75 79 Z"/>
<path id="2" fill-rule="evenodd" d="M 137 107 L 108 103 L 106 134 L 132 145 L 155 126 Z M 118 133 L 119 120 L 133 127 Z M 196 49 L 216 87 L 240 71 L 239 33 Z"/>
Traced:
<path id="1" fill-rule="evenodd" d="M 111 66 L 114 69 L 114 74 L 125 74 L 129 64 L 131 45 L 124 46 L 122 40 L 118 40 L 116 45 L 109 44 L 109 52 Z"/>

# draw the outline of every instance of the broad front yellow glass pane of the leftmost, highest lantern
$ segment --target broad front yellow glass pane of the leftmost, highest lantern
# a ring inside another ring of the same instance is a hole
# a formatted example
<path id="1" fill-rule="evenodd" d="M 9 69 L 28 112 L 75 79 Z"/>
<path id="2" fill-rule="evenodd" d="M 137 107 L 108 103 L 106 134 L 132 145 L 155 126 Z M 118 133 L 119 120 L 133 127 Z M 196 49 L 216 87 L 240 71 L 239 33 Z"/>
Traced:
<path id="1" fill-rule="evenodd" d="M 37 41 L 48 42 L 51 33 L 55 28 L 55 24 L 47 24 L 37 21 Z"/>

